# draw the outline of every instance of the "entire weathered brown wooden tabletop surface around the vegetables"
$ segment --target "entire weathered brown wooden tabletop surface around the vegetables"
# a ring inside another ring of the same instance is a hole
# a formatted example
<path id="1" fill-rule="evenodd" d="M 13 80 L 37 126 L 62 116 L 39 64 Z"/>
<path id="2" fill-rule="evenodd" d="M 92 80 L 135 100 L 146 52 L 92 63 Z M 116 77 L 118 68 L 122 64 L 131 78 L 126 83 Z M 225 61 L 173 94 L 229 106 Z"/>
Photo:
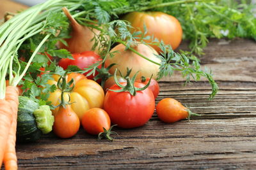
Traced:
<path id="1" fill-rule="evenodd" d="M 183 43 L 181 48 L 186 48 Z M 118 129 L 113 142 L 97 141 L 80 129 L 71 139 L 48 134 L 17 145 L 20 169 L 255 169 L 256 43 L 212 39 L 202 57 L 220 92 L 202 81 L 186 87 L 178 73 L 160 81 L 156 102 L 174 97 L 195 113 L 189 123 L 164 124 L 156 113 L 143 127 Z"/>

